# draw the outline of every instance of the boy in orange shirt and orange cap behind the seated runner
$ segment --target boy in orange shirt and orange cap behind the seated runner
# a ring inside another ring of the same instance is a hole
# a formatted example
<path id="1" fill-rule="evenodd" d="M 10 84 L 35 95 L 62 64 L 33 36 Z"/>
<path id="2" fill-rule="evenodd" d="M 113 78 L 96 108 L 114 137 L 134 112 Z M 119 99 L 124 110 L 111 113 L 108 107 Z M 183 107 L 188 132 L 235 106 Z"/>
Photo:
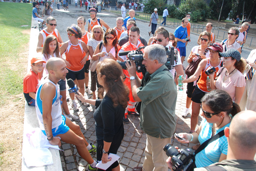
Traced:
<path id="1" fill-rule="evenodd" d="M 42 58 L 33 57 L 31 59 L 31 69 L 23 78 L 23 94 L 28 105 L 35 106 L 35 93 L 39 82 L 38 73 L 44 70 L 44 63 L 46 62 Z"/>

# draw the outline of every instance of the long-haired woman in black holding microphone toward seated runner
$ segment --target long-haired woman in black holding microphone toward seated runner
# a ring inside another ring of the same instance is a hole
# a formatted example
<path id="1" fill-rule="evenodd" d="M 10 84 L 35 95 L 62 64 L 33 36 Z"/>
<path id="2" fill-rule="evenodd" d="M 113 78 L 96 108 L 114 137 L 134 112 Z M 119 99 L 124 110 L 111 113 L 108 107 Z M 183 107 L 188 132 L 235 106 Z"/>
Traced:
<path id="1" fill-rule="evenodd" d="M 105 90 L 106 95 L 101 100 L 85 99 L 80 93 L 76 94 L 82 102 L 96 106 L 93 117 L 97 139 L 97 160 L 107 163 L 109 153 L 116 154 L 124 137 L 122 119 L 129 100 L 129 89 L 122 82 L 122 67 L 115 60 L 100 61 L 96 70 L 98 81 Z M 101 169 L 98 169 L 102 171 Z M 118 161 L 114 162 L 106 171 L 119 171 Z"/>

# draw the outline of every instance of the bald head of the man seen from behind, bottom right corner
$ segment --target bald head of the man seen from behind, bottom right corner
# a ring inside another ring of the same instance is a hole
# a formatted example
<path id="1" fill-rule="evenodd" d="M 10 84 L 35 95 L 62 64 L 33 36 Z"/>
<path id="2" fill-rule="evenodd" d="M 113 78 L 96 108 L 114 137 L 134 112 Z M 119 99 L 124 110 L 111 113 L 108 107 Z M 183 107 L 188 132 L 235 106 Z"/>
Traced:
<path id="1" fill-rule="evenodd" d="M 230 124 L 229 144 L 236 144 L 244 150 L 256 149 L 256 112 L 241 111 Z"/>

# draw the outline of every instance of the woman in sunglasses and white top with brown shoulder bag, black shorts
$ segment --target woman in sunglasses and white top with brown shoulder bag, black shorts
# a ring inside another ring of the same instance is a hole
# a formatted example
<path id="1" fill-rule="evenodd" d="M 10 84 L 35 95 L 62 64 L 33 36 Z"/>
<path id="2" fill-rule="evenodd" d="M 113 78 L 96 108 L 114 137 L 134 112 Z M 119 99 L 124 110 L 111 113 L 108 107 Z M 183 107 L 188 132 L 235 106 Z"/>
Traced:
<path id="1" fill-rule="evenodd" d="M 211 39 L 210 33 L 208 33 L 207 31 L 201 32 L 201 34 L 199 35 L 200 45 L 194 46 L 192 48 L 189 54 L 189 57 L 187 59 L 188 63 L 195 62 L 200 57 L 202 59 L 209 58 L 209 51 L 207 51 L 205 54 L 205 49 L 208 47 L 210 39 Z M 194 82 L 191 82 L 191 83 L 187 83 L 186 111 L 185 113 L 181 114 L 182 117 L 186 117 L 189 114 L 189 108 L 192 103 L 191 97 L 197 81 L 198 80 L 195 80 Z"/>

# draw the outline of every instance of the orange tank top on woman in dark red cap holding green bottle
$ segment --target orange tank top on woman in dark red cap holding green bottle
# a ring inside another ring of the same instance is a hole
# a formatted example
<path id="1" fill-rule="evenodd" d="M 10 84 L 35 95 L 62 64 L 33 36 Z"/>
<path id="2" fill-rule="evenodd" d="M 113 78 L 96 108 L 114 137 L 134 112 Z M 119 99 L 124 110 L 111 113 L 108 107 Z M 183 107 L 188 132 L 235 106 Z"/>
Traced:
<path id="1" fill-rule="evenodd" d="M 204 92 L 206 92 L 206 93 L 209 92 L 209 91 L 207 90 L 207 86 L 206 86 L 206 79 L 207 79 L 207 76 L 208 76 L 208 75 L 205 74 L 205 71 L 206 71 L 207 69 L 209 69 L 209 68 L 212 68 L 212 66 L 211 66 L 211 64 L 210 64 L 210 59 L 207 58 L 207 64 L 206 64 L 205 68 L 203 69 L 203 71 L 201 72 L 201 77 L 200 77 L 200 79 L 198 80 L 198 83 L 197 83 L 198 88 L 199 88 L 201 91 L 204 91 Z M 219 65 L 215 67 L 216 73 L 218 72 L 219 68 L 221 68 L 221 61 L 220 61 Z M 216 73 L 214 74 L 214 79 L 215 79 L 215 77 L 216 77 Z"/>

